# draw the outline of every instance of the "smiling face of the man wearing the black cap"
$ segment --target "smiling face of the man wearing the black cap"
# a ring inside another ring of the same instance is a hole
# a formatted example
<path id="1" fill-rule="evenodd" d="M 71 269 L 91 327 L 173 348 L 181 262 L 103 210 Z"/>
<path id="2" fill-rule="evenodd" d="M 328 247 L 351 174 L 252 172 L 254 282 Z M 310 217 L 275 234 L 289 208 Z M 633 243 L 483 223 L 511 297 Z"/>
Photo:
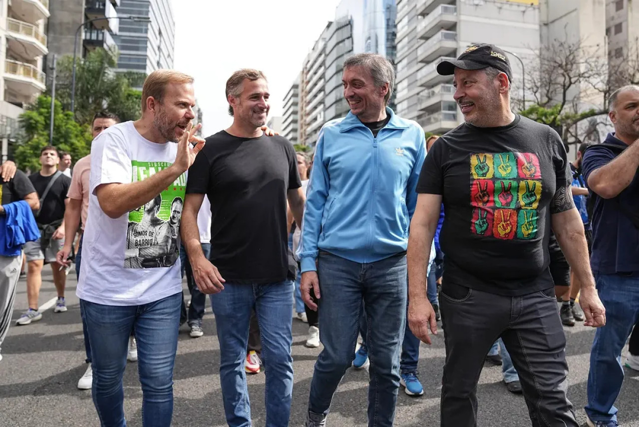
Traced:
<path id="1" fill-rule="evenodd" d="M 505 75 L 505 74 L 504 74 Z M 500 110 L 500 86 L 484 70 L 455 68 L 454 98 L 466 123 L 478 127 L 491 126 L 495 112 Z"/>

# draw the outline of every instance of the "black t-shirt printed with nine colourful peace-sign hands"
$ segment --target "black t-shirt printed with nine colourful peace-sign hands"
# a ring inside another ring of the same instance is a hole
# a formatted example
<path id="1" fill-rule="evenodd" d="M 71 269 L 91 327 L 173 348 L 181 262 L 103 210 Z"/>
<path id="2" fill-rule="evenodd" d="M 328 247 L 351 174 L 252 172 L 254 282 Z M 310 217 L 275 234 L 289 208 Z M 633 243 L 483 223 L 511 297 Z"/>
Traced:
<path id="1" fill-rule="evenodd" d="M 417 192 L 441 194 L 444 281 L 497 295 L 553 286 L 550 202 L 572 181 L 557 132 L 516 116 L 510 125 L 468 123 L 429 151 Z"/>

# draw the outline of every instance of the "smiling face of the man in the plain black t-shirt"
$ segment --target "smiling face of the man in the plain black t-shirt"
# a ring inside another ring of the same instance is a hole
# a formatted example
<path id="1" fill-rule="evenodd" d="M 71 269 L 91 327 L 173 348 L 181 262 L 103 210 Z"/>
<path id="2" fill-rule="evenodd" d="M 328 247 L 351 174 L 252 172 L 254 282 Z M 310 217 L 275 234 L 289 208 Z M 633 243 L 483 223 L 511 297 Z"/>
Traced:
<path id="1" fill-rule="evenodd" d="M 269 97 L 268 83 L 265 79 L 244 79 L 240 95 L 229 95 L 228 101 L 233 107 L 233 117 L 236 121 L 259 128 L 266 125 L 266 117 L 271 108 Z"/>

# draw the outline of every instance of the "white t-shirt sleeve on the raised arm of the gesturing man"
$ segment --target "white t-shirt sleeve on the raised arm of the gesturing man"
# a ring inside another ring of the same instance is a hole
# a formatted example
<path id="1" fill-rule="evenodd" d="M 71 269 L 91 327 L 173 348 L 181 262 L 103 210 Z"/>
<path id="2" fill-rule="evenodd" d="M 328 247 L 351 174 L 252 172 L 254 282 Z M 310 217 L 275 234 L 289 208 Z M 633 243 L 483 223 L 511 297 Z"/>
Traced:
<path id="1" fill-rule="evenodd" d="M 89 191 L 98 185 L 132 182 L 131 153 L 121 133 L 102 132 L 91 143 Z"/>

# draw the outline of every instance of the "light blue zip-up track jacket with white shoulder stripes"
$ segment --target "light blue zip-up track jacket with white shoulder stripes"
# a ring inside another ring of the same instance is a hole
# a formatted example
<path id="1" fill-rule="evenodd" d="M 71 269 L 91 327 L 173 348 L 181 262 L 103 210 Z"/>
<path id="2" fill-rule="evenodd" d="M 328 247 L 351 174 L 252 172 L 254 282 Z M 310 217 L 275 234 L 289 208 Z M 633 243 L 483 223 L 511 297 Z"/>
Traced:
<path id="1" fill-rule="evenodd" d="M 371 263 L 406 251 L 426 157 L 424 130 L 390 109 L 373 132 L 352 113 L 319 132 L 307 191 L 302 272 L 314 271 L 318 251 Z"/>

